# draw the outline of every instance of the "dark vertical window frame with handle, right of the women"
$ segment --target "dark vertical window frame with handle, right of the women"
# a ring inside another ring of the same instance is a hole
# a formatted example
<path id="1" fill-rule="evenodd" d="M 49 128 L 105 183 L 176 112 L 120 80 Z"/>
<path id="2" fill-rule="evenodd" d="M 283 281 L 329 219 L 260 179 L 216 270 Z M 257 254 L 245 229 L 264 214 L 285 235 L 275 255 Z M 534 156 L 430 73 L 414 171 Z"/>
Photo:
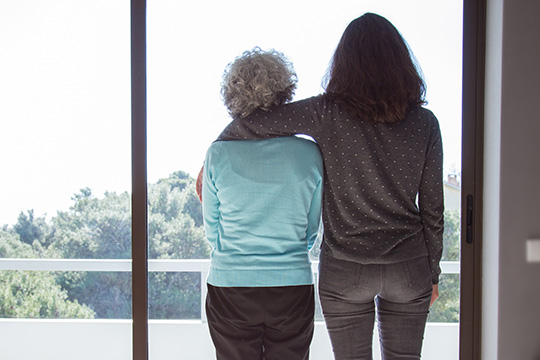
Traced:
<path id="1" fill-rule="evenodd" d="M 463 1 L 459 358 L 481 358 L 486 0 Z"/>

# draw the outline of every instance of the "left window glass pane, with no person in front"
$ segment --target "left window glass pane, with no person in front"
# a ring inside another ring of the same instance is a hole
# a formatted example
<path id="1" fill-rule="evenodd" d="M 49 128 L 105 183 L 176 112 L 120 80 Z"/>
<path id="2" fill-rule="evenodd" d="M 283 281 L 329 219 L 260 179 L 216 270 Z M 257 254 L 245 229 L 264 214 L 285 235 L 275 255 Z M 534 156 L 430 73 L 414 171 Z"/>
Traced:
<path id="1" fill-rule="evenodd" d="M 131 357 L 129 14 L 2 5 L 3 359 Z"/>

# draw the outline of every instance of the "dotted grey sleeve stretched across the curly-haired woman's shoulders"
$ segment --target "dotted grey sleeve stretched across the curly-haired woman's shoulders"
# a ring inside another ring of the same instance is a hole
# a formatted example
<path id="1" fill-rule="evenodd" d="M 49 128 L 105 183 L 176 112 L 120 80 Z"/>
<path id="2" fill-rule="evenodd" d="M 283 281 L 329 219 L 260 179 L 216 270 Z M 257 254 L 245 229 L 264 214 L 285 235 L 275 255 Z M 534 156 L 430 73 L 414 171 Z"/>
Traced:
<path id="1" fill-rule="evenodd" d="M 304 134 L 317 138 L 321 131 L 327 105 L 316 96 L 268 111 L 256 110 L 245 119 L 234 119 L 218 140 L 263 139 Z"/>

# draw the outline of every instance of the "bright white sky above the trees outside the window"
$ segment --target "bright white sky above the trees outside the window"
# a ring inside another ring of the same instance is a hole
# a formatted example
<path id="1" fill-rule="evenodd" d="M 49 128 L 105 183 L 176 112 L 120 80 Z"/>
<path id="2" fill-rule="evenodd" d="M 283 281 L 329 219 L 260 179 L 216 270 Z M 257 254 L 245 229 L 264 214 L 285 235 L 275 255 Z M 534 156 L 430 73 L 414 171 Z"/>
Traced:
<path id="1" fill-rule="evenodd" d="M 51 218 L 82 188 L 130 191 L 128 0 L 0 0 L 0 225 Z M 441 124 L 445 172 L 461 168 L 462 2 L 457 0 L 148 0 L 148 177 L 196 176 L 230 121 L 226 65 L 276 49 L 298 74 L 295 99 L 321 79 L 347 24 L 388 18 L 408 41 Z"/>

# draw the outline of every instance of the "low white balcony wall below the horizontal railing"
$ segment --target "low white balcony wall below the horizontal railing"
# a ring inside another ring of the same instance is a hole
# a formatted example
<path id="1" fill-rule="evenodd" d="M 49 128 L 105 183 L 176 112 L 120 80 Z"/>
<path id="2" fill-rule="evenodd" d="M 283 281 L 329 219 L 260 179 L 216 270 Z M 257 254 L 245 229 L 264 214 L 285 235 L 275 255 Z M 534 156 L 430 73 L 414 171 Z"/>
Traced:
<path id="1" fill-rule="evenodd" d="M 0 319 L 0 359 L 130 360 L 131 326 L 129 320 Z M 423 358 L 456 360 L 458 341 L 457 323 L 428 323 Z M 373 345 L 374 359 L 380 359 L 376 331 Z M 215 359 L 208 326 L 199 320 L 151 320 L 149 347 L 150 360 Z M 315 325 L 310 351 L 311 360 L 332 359 L 322 322 Z"/>

